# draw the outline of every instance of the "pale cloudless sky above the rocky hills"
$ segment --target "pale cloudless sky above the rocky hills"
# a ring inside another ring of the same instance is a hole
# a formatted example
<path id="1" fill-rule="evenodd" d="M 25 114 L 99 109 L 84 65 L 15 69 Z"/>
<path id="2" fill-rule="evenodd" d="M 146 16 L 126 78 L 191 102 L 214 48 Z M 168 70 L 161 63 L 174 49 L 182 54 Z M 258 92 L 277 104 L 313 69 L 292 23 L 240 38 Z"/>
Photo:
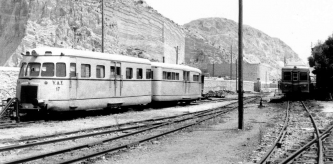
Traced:
<path id="1" fill-rule="evenodd" d="M 145 0 L 183 25 L 206 17 L 238 22 L 238 0 Z M 333 34 L 333 0 L 243 0 L 243 24 L 289 45 L 304 61 L 318 40 Z"/>

